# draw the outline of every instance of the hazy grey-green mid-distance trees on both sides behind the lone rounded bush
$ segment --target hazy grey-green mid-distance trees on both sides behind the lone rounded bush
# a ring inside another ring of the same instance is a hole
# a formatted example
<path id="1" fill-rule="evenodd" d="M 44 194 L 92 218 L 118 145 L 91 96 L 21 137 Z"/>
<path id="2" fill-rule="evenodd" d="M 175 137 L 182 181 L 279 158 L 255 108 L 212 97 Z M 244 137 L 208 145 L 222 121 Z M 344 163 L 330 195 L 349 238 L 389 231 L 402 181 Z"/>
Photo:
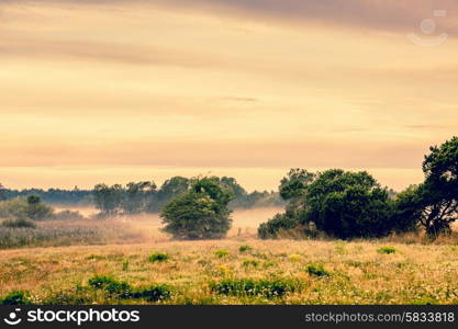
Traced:
<path id="1" fill-rule="evenodd" d="M 248 193 L 234 178 L 214 177 L 213 179 L 231 194 L 228 207 L 232 209 L 284 205 L 278 192 Z M 165 181 L 159 189 L 154 182 L 147 181 L 131 182 L 125 186 L 98 184 L 92 191 L 92 198 L 101 215 L 159 213 L 172 200 L 188 192 L 194 181 L 196 178 L 174 177 Z"/>

